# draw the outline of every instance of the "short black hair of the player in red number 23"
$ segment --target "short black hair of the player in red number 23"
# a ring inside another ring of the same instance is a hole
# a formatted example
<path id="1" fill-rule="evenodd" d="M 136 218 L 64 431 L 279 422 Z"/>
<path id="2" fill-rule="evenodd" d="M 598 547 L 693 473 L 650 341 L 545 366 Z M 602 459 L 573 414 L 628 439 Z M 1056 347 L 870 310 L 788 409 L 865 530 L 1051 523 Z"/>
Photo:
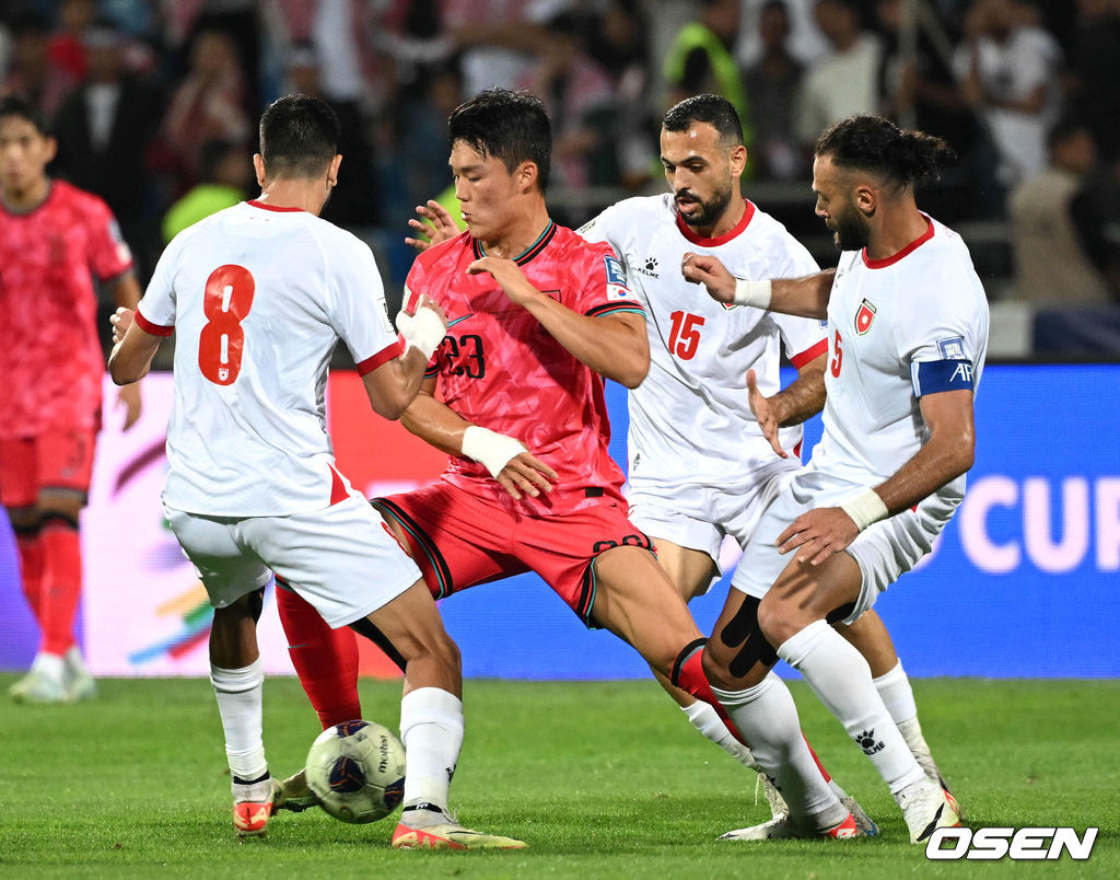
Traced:
<path id="1" fill-rule="evenodd" d="M 459 104 L 447 120 L 451 143 L 463 141 L 483 158 L 501 159 L 513 172 L 521 163 L 536 165 L 541 192 L 552 168 L 552 123 L 541 99 L 528 92 L 487 89 Z"/>

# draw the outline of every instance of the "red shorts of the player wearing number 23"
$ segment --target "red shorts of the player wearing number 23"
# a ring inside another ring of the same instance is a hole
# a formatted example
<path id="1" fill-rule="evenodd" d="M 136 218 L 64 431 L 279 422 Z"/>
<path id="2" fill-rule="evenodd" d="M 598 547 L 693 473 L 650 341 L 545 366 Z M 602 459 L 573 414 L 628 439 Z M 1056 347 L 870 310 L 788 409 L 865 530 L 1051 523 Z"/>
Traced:
<path id="1" fill-rule="evenodd" d="M 479 501 L 440 481 L 412 492 L 375 498 L 373 504 L 400 521 L 436 599 L 487 581 L 536 572 L 589 627 L 595 626 L 591 561 L 619 546 L 653 550 L 653 543 L 612 498 L 572 513 L 530 517 Z"/>

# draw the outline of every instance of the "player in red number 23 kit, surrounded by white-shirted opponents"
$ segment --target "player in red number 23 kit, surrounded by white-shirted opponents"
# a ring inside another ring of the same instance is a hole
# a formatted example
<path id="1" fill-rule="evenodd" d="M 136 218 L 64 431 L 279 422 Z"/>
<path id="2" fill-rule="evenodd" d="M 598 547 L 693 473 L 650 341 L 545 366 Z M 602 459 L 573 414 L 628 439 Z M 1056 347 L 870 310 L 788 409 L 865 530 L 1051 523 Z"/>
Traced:
<path id="1" fill-rule="evenodd" d="M 483 92 L 452 113 L 450 135 L 468 231 L 417 259 L 399 322 L 422 295 L 447 313 L 447 336 L 402 424 L 451 458 L 435 484 L 374 504 L 436 595 L 534 571 L 587 624 L 710 700 L 696 663 L 704 639 L 626 518 L 607 453 L 601 377 L 631 388 L 645 377 L 642 308 L 609 246 L 549 219 L 551 136 L 536 99 Z M 315 632 L 321 623 L 293 593 L 278 596 L 320 720 L 356 714 L 353 665 L 328 679 L 323 660 L 338 658 Z M 423 807 L 407 805 L 405 822 L 426 821 Z M 844 832 L 859 833 L 851 816 Z"/>

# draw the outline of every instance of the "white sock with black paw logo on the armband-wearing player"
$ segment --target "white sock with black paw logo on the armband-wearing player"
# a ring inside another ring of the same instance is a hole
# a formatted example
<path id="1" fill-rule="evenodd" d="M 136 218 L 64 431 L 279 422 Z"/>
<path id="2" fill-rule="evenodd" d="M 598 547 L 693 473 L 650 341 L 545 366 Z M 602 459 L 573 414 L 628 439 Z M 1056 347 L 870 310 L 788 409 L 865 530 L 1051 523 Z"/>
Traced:
<path id="1" fill-rule="evenodd" d="M 814 621 L 784 641 L 777 656 L 804 676 L 818 700 L 870 758 L 892 794 L 925 775 L 875 689 L 867 660 L 839 632 L 823 620 Z"/>

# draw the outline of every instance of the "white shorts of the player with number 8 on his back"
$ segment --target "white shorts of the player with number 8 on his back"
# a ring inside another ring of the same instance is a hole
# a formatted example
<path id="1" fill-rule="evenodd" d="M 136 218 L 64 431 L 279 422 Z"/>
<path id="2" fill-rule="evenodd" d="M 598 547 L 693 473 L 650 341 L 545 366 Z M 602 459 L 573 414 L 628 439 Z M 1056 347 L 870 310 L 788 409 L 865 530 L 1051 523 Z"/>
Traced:
<path id="1" fill-rule="evenodd" d="M 260 590 L 272 572 L 334 628 L 366 617 L 421 580 L 416 563 L 356 492 L 287 517 L 205 517 L 164 507 L 214 608 Z"/>

